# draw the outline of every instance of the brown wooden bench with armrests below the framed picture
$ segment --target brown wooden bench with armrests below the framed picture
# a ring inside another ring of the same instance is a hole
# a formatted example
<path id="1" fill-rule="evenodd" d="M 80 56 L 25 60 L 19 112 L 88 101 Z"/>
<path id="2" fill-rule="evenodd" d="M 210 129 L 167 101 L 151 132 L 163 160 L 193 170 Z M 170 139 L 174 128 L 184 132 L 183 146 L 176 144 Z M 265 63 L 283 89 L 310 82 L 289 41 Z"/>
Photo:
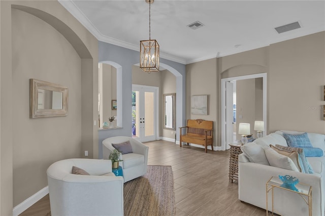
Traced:
<path id="1" fill-rule="evenodd" d="M 182 134 L 182 129 L 186 128 L 186 133 Z M 213 121 L 205 121 L 202 119 L 187 120 L 187 126 L 180 127 L 179 147 L 182 142 L 198 144 L 205 146 L 205 152 L 208 152 L 208 145 L 213 150 Z"/>

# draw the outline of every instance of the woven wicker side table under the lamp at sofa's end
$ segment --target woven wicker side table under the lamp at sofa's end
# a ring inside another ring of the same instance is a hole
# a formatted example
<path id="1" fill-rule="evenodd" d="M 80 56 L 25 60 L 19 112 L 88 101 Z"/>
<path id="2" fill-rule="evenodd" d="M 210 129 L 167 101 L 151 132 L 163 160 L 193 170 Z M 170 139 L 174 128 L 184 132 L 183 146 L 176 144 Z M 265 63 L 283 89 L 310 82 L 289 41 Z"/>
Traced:
<path id="1" fill-rule="evenodd" d="M 242 154 L 240 147 L 242 143 L 232 143 L 230 146 L 230 158 L 229 158 L 229 182 L 238 182 L 238 155 Z"/>

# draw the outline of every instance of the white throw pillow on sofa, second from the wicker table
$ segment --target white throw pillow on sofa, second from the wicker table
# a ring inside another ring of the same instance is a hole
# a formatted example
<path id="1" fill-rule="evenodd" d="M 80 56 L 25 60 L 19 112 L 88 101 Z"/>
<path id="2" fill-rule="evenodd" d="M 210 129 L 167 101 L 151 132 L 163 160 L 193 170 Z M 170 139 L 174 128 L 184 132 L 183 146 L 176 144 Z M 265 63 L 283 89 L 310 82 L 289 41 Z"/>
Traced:
<path id="1" fill-rule="evenodd" d="M 287 156 L 281 155 L 271 148 L 265 148 L 264 151 L 266 158 L 268 159 L 271 166 L 299 172 L 293 160 L 291 160 Z"/>

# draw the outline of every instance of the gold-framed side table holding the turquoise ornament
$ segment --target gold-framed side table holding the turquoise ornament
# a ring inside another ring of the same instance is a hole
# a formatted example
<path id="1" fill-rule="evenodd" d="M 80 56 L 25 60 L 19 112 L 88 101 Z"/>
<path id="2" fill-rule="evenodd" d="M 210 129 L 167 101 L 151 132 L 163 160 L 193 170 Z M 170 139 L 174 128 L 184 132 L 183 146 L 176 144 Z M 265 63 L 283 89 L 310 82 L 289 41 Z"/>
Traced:
<path id="1" fill-rule="evenodd" d="M 310 185 L 304 184 L 304 183 L 298 183 L 296 185 L 296 189 L 298 191 L 291 190 L 289 188 L 281 187 L 282 186 L 282 181 L 278 176 L 272 176 L 269 181 L 266 183 L 266 215 L 268 216 L 268 193 L 269 191 L 272 191 L 272 215 L 274 215 L 274 193 L 273 190 L 274 188 L 279 188 L 282 190 L 290 191 L 299 194 L 306 202 L 308 205 L 308 210 L 309 210 L 309 216 L 311 216 L 312 213 L 312 199 L 311 199 L 311 192 L 312 192 L 312 187 Z M 279 213 L 277 213 L 279 214 Z M 281 214 L 280 214 L 281 215 Z"/>

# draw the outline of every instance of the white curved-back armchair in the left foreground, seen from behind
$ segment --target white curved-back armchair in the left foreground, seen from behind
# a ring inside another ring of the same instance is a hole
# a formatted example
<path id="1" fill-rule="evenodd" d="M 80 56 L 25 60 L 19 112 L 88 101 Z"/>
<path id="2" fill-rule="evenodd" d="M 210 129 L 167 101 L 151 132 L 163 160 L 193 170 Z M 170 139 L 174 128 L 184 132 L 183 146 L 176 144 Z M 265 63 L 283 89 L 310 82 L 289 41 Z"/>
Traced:
<path id="1" fill-rule="evenodd" d="M 72 174 L 73 166 L 90 175 Z M 123 215 L 123 178 L 111 172 L 111 160 L 66 159 L 53 163 L 47 169 L 51 214 Z"/>

